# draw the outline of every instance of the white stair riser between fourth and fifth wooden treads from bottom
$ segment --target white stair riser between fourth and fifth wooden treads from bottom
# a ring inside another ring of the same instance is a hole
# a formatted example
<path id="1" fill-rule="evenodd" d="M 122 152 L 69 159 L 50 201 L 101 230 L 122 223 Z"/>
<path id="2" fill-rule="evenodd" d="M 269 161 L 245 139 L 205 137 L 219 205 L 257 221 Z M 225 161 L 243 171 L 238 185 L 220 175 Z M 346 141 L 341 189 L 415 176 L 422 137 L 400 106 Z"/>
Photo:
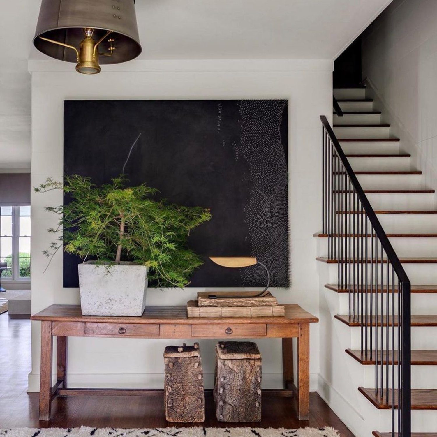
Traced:
<path id="1" fill-rule="evenodd" d="M 378 281 L 379 282 L 379 281 Z M 335 293 L 335 291 L 333 291 Z M 365 295 L 364 291 L 363 294 Z M 384 314 L 386 314 L 387 309 L 387 293 L 383 294 L 382 304 L 384 309 Z M 348 293 L 339 293 L 339 314 L 349 314 L 349 294 Z M 391 312 L 392 306 L 392 295 L 389 293 L 389 312 Z M 352 302 L 355 302 L 355 311 L 356 314 L 361 314 L 361 292 L 355 294 L 355 298 L 352 298 L 351 294 L 351 311 L 352 311 Z M 365 312 L 365 297 L 363 298 L 363 309 Z M 368 293 L 368 312 L 370 312 L 370 308 L 372 307 L 374 310 L 374 314 L 376 311 L 376 302 L 375 302 L 375 293 L 373 293 L 372 304 L 370 302 L 370 293 Z M 398 305 L 398 295 L 395 293 L 395 313 L 397 314 L 397 305 Z M 357 312 L 358 309 L 358 312 Z M 378 293 L 378 314 L 381 313 L 381 293 Z M 437 313 L 437 293 L 412 293 L 411 294 L 411 313 L 412 314 L 436 314 Z M 436 331 L 437 332 L 437 331 Z M 436 343 L 437 349 L 437 343 Z M 437 367 L 436 367 L 437 371 Z"/>

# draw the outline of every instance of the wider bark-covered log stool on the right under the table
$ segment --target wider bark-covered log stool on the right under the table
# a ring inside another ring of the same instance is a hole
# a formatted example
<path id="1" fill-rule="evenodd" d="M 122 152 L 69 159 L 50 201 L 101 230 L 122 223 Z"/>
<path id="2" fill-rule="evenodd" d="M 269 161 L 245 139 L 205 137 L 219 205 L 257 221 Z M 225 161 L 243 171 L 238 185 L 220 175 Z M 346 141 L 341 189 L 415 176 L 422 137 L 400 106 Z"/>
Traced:
<path id="1" fill-rule="evenodd" d="M 261 421 L 261 354 L 256 343 L 217 344 L 214 401 L 221 422 Z"/>

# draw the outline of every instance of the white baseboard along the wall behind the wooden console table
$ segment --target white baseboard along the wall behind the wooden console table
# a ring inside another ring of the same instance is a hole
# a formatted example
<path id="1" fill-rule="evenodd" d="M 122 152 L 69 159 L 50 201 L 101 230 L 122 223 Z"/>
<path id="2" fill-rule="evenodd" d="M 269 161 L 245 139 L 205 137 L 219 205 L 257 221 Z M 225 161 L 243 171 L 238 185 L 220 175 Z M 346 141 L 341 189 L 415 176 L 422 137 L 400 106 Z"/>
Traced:
<path id="1" fill-rule="evenodd" d="M 309 376 L 309 386 L 312 392 L 317 391 L 318 375 Z M 277 373 L 263 374 L 263 388 L 282 388 L 283 376 Z M 205 388 L 212 388 L 214 385 L 214 374 L 204 374 Z M 53 375 L 55 381 L 55 374 Z M 39 373 L 29 373 L 28 392 L 39 392 Z M 163 388 L 164 375 L 162 373 L 150 374 L 84 374 L 69 373 L 69 387 L 80 388 Z"/>

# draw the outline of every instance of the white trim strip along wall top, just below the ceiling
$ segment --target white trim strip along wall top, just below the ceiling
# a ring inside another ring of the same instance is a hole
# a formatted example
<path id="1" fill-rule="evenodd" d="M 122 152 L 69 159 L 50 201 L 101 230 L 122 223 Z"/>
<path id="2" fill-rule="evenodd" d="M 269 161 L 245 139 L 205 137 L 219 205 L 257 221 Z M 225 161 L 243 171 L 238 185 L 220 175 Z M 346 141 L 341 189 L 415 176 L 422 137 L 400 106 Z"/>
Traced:
<path id="1" fill-rule="evenodd" d="M 330 59 L 136 59 L 102 66 L 105 72 L 127 71 L 333 71 Z M 30 73 L 74 72 L 74 64 L 56 59 L 29 59 Z"/>

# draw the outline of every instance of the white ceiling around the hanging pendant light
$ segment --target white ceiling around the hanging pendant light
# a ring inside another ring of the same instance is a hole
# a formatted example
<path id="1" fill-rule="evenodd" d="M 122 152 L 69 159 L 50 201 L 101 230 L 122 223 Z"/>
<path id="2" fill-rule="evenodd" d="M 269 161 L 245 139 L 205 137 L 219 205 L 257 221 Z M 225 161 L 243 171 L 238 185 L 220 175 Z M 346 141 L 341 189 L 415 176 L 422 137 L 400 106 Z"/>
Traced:
<path id="1" fill-rule="evenodd" d="M 335 59 L 390 1 L 136 0 L 140 59 Z M 39 3 L 7 2 L 0 17 L 0 171 L 30 166 Z"/>

